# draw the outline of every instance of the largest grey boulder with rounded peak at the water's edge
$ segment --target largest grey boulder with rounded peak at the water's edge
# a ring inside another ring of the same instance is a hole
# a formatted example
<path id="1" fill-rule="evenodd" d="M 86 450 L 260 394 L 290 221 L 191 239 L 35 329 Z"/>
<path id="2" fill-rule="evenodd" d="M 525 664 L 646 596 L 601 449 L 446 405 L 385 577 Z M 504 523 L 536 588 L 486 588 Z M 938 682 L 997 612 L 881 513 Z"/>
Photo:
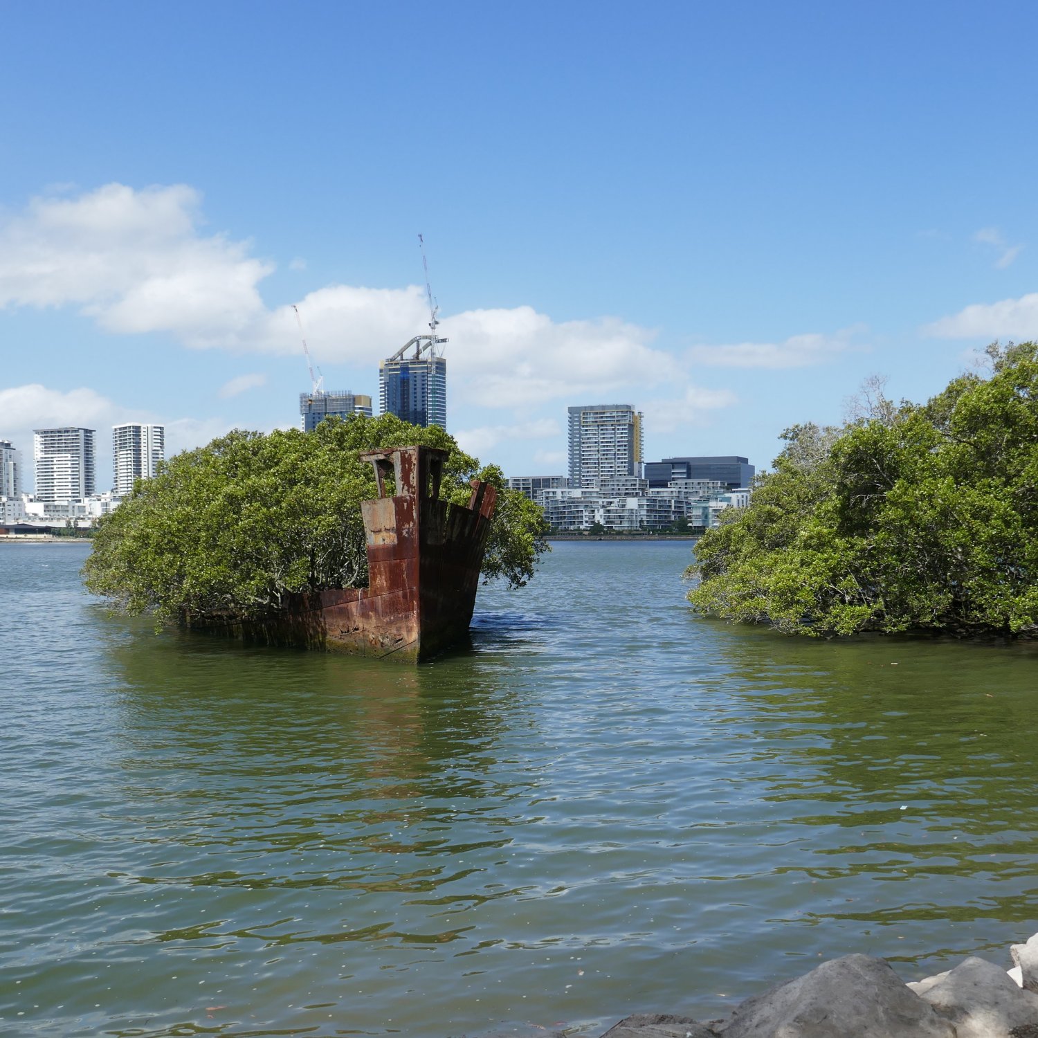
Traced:
<path id="1" fill-rule="evenodd" d="M 869 955 L 824 962 L 748 999 L 716 1031 L 722 1038 L 956 1038 L 949 1020 Z"/>

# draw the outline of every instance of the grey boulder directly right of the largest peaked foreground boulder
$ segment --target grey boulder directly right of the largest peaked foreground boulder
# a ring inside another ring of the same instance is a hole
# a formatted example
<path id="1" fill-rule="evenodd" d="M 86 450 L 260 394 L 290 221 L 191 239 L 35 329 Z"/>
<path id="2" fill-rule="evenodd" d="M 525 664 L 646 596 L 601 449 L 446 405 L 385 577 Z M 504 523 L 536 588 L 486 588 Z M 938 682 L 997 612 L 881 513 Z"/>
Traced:
<path id="1" fill-rule="evenodd" d="M 958 1038 L 1038 1038 L 1038 994 L 985 959 L 971 956 L 922 998 L 955 1025 Z"/>

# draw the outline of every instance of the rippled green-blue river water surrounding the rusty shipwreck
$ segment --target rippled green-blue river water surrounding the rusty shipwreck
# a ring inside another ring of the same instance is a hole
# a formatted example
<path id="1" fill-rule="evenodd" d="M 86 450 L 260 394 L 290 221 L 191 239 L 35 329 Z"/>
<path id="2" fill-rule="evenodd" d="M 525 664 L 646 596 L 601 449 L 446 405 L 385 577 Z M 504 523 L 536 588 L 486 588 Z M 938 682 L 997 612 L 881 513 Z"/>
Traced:
<path id="1" fill-rule="evenodd" d="M 692 617 L 559 543 L 417 668 L 113 620 L 0 545 L 0 1033 L 596 1035 L 1038 930 L 1038 655 Z"/>

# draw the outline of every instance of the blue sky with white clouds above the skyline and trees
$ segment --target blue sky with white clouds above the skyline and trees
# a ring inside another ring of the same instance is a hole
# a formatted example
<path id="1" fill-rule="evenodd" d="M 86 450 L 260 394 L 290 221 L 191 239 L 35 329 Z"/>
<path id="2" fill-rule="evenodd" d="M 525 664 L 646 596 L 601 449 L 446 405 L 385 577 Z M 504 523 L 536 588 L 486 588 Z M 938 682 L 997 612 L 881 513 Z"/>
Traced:
<path id="1" fill-rule="evenodd" d="M 449 336 L 448 428 L 565 470 L 925 399 L 1038 336 L 1029 3 L 0 3 L 0 438 L 298 421 Z"/>

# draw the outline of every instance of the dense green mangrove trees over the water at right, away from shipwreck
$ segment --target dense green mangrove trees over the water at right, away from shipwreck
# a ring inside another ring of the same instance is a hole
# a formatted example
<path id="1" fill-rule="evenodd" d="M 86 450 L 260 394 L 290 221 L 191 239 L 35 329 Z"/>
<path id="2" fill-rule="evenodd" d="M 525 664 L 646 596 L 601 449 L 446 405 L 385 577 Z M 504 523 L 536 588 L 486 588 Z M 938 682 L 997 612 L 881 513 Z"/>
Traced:
<path id="1" fill-rule="evenodd" d="M 696 545 L 692 605 L 794 634 L 1038 634 L 1038 345 L 987 354 L 925 405 L 873 392 L 842 428 L 787 430 Z"/>

